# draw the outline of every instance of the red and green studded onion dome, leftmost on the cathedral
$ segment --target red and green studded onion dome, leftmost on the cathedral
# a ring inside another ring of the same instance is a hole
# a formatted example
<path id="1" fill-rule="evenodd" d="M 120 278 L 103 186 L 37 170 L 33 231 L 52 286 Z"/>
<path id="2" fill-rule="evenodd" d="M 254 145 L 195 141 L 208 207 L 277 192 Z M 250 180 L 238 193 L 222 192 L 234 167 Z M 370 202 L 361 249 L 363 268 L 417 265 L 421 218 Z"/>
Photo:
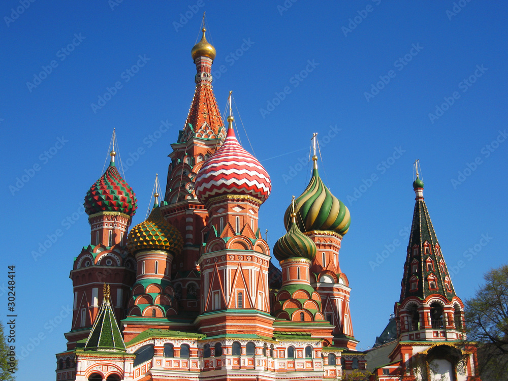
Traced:
<path id="1" fill-rule="evenodd" d="M 115 166 L 115 151 L 110 152 L 111 162 L 104 175 L 94 183 L 85 196 L 85 211 L 91 215 L 99 212 L 121 212 L 131 217 L 138 208 L 136 194 L 120 176 Z"/>

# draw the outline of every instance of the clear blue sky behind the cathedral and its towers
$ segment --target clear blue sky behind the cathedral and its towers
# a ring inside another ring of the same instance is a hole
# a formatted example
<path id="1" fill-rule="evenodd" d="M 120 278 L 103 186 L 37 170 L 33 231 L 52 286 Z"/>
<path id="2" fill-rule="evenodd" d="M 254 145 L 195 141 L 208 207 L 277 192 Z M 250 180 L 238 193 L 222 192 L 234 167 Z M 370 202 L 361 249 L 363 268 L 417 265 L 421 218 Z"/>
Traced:
<path id="1" fill-rule="evenodd" d="M 123 161 L 144 149 L 125 172 L 139 200 L 133 224 L 145 217 L 155 173 L 165 187 L 170 144 L 194 93 L 190 49 L 204 10 L 217 50 L 220 110 L 233 90 L 237 134 L 252 151 L 241 117 L 271 176 L 272 195 L 260 211 L 270 247 L 284 234 L 291 196 L 308 182 L 310 138 L 319 133 L 320 173 L 352 216 L 340 265 L 352 287 L 359 349 L 372 345 L 399 299 L 416 159 L 458 296 L 471 297 L 483 273 L 506 262 L 506 4 L 21 3 L 0 6 L 0 285 L 7 286 L 7 266 L 14 265 L 16 346 L 18 354 L 33 349 L 20 361 L 18 379 L 53 379 L 54 354 L 66 348 L 69 272 L 89 243 L 79 213 L 102 175 L 113 128 Z M 127 73 L 138 61 L 143 67 Z M 116 82 L 114 96 L 92 109 Z M 172 128 L 156 133 L 162 120 Z M 35 261 L 32 252 L 58 229 L 62 235 Z M 489 237 L 485 246 L 482 235 Z M 387 258 L 373 267 L 386 247 Z"/>

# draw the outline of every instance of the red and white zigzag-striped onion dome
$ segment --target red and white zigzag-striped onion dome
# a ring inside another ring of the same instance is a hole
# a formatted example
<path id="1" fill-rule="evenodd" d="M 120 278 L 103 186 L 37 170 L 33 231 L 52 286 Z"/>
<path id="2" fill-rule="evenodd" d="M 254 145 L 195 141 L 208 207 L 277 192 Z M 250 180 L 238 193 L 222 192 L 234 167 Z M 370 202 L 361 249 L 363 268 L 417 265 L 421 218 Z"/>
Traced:
<path id="1" fill-rule="evenodd" d="M 270 176 L 238 143 L 232 127 L 224 144 L 201 167 L 195 183 L 196 196 L 203 204 L 223 195 L 247 195 L 263 203 L 271 187 Z"/>

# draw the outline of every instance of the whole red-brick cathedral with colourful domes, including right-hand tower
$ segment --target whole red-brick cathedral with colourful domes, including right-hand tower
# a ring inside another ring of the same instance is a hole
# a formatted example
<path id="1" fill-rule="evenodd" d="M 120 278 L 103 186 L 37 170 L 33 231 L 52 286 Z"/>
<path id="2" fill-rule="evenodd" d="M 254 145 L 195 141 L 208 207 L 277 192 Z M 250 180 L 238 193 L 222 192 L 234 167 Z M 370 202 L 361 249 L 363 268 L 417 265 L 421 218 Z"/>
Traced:
<path id="1" fill-rule="evenodd" d="M 191 54 L 194 98 L 148 218 L 131 227 L 137 199 L 114 148 L 86 192 L 90 242 L 70 274 L 56 379 L 480 380 L 418 171 L 400 299 L 373 348 L 358 351 L 339 264 L 350 212 L 320 177 L 316 139 L 309 183 L 288 199 L 286 233 L 270 248 L 258 226 L 270 176 L 235 137 L 231 94 L 221 117 L 204 28 Z"/>

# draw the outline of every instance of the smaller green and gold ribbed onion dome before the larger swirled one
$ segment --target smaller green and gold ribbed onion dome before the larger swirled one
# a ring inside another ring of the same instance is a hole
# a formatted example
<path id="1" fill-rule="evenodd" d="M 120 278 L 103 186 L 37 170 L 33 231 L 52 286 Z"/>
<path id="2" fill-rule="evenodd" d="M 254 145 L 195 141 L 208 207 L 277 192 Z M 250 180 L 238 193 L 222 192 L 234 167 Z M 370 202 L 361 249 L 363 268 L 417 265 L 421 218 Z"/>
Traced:
<path id="1" fill-rule="evenodd" d="M 288 258 L 305 258 L 313 260 L 316 256 L 315 243 L 303 234 L 296 223 L 296 214 L 291 214 L 291 226 L 286 234 L 273 246 L 273 256 L 282 261 Z"/>

